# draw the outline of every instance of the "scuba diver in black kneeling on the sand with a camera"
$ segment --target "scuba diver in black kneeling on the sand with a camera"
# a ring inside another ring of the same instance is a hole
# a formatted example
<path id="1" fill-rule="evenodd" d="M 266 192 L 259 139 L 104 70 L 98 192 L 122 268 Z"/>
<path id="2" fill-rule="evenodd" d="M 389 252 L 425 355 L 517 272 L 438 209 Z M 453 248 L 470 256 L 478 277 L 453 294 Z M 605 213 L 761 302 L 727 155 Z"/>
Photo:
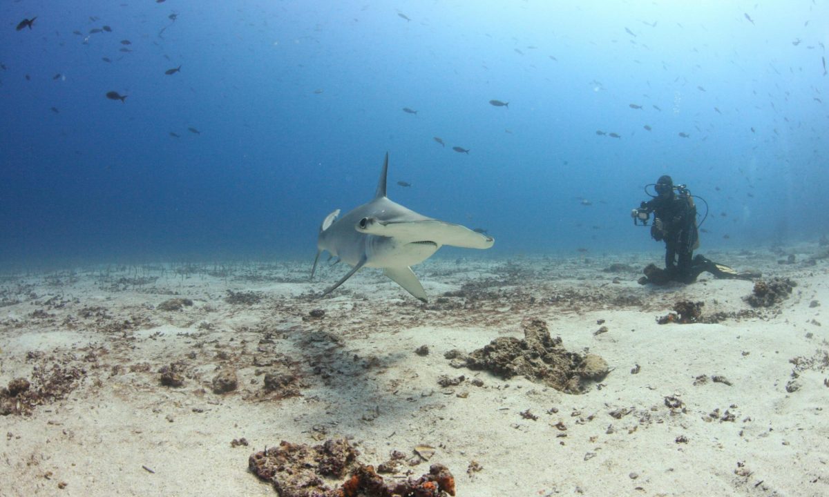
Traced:
<path id="1" fill-rule="evenodd" d="M 700 247 L 693 195 L 685 185 L 675 186 L 671 176 L 667 175 L 660 176 L 653 187 L 657 195 L 651 195 L 651 200 L 642 202 L 638 209 L 631 212 L 631 217 L 634 224 L 647 226 L 650 215 L 654 215 L 651 237 L 657 242 L 665 242 L 665 269 L 649 264 L 645 268 L 645 276 L 639 279 L 639 283 L 692 283 L 703 271 L 724 278 L 759 277 L 759 273 L 737 273 L 734 269 L 714 263 L 699 254 L 693 257 L 694 250 Z M 650 195 L 647 186 L 645 193 Z"/>

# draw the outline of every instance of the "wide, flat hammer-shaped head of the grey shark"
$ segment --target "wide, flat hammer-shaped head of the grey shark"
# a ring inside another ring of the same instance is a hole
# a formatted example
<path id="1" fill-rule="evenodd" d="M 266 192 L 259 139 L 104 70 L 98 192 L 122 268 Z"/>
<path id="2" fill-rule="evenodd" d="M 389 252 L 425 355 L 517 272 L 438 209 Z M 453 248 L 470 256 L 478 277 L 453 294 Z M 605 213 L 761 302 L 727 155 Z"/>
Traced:
<path id="1" fill-rule="evenodd" d="M 431 241 L 438 245 L 452 245 L 464 249 L 489 249 L 495 239 L 468 229 L 460 224 L 440 220 L 381 221 L 363 218 L 355 229 L 361 233 L 394 237 L 408 242 Z"/>

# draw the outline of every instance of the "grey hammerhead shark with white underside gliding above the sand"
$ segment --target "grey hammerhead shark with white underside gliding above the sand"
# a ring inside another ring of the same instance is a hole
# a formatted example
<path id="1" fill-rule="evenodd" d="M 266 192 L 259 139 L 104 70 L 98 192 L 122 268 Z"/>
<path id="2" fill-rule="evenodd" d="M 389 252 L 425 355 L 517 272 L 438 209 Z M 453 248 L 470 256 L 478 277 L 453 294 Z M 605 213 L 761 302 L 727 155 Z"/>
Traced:
<path id="1" fill-rule="evenodd" d="M 389 153 L 385 153 L 383 171 L 374 199 L 356 207 L 337 219 L 340 210 L 327 215 L 319 228 L 317 257 L 311 277 L 317 270 L 319 255 L 327 250 L 353 266 L 340 281 L 322 292 L 331 293 L 361 268 L 382 268 L 385 276 L 406 292 L 426 302 L 426 292 L 410 266 L 422 263 L 444 245 L 466 249 L 489 249 L 495 243 L 491 236 L 477 233 L 460 224 L 446 223 L 420 215 L 414 210 L 389 200 L 385 195 L 385 179 L 389 172 Z"/>

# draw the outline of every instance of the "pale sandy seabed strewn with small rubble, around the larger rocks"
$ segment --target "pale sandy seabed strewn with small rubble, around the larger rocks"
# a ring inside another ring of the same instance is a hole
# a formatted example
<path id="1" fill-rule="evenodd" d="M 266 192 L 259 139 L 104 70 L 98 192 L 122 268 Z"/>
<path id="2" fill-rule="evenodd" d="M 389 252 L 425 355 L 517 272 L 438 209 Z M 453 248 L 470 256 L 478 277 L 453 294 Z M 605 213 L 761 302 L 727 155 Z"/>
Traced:
<path id="1" fill-rule="evenodd" d="M 376 270 L 318 298 L 347 268 L 308 262 L 6 273 L 0 495 L 277 495 L 250 456 L 342 438 L 462 496 L 829 495 L 826 248 L 706 255 L 796 286 L 639 285 L 654 253 L 432 258 L 426 304 Z M 658 324 L 676 302 L 697 322 Z M 565 393 L 446 357 L 533 320 L 609 373 Z"/>

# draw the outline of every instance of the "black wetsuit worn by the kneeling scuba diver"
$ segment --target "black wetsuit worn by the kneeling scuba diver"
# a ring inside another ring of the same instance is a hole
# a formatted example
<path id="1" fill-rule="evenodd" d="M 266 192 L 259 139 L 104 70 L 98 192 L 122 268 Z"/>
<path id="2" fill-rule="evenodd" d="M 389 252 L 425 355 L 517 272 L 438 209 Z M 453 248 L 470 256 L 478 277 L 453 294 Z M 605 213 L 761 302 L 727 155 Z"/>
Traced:
<path id="1" fill-rule="evenodd" d="M 652 212 L 656 220 L 662 222 L 660 230 L 657 221 L 654 221 L 651 235 L 654 239 L 665 240 L 667 277 L 677 282 L 693 282 L 700 273 L 691 268 L 700 235 L 696 229 L 696 206 L 691 195 L 686 192 L 676 195 L 671 191 L 670 196 L 657 196 L 642 202 L 642 208 Z"/>

